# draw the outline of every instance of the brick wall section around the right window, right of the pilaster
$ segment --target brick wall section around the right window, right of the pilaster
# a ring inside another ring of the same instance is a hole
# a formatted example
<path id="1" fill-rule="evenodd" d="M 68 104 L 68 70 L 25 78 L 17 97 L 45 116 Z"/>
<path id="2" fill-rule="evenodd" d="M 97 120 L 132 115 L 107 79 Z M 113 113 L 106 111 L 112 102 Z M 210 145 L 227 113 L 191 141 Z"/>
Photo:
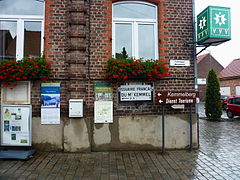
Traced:
<path id="1" fill-rule="evenodd" d="M 191 60 L 190 67 L 171 68 L 170 79 L 155 82 L 154 89 L 194 90 L 192 47 L 184 46 L 185 41 L 192 41 L 192 1 L 147 2 L 152 2 L 158 7 L 159 59 L 167 62 L 170 59 Z M 112 1 L 92 1 L 90 15 L 91 78 L 104 78 L 103 67 L 112 56 Z M 116 87 L 114 93 L 117 94 Z M 153 104 L 155 103 L 119 103 L 118 97 L 114 96 L 115 115 L 159 114 L 159 105 Z M 168 110 L 171 113 L 179 113 Z"/>

